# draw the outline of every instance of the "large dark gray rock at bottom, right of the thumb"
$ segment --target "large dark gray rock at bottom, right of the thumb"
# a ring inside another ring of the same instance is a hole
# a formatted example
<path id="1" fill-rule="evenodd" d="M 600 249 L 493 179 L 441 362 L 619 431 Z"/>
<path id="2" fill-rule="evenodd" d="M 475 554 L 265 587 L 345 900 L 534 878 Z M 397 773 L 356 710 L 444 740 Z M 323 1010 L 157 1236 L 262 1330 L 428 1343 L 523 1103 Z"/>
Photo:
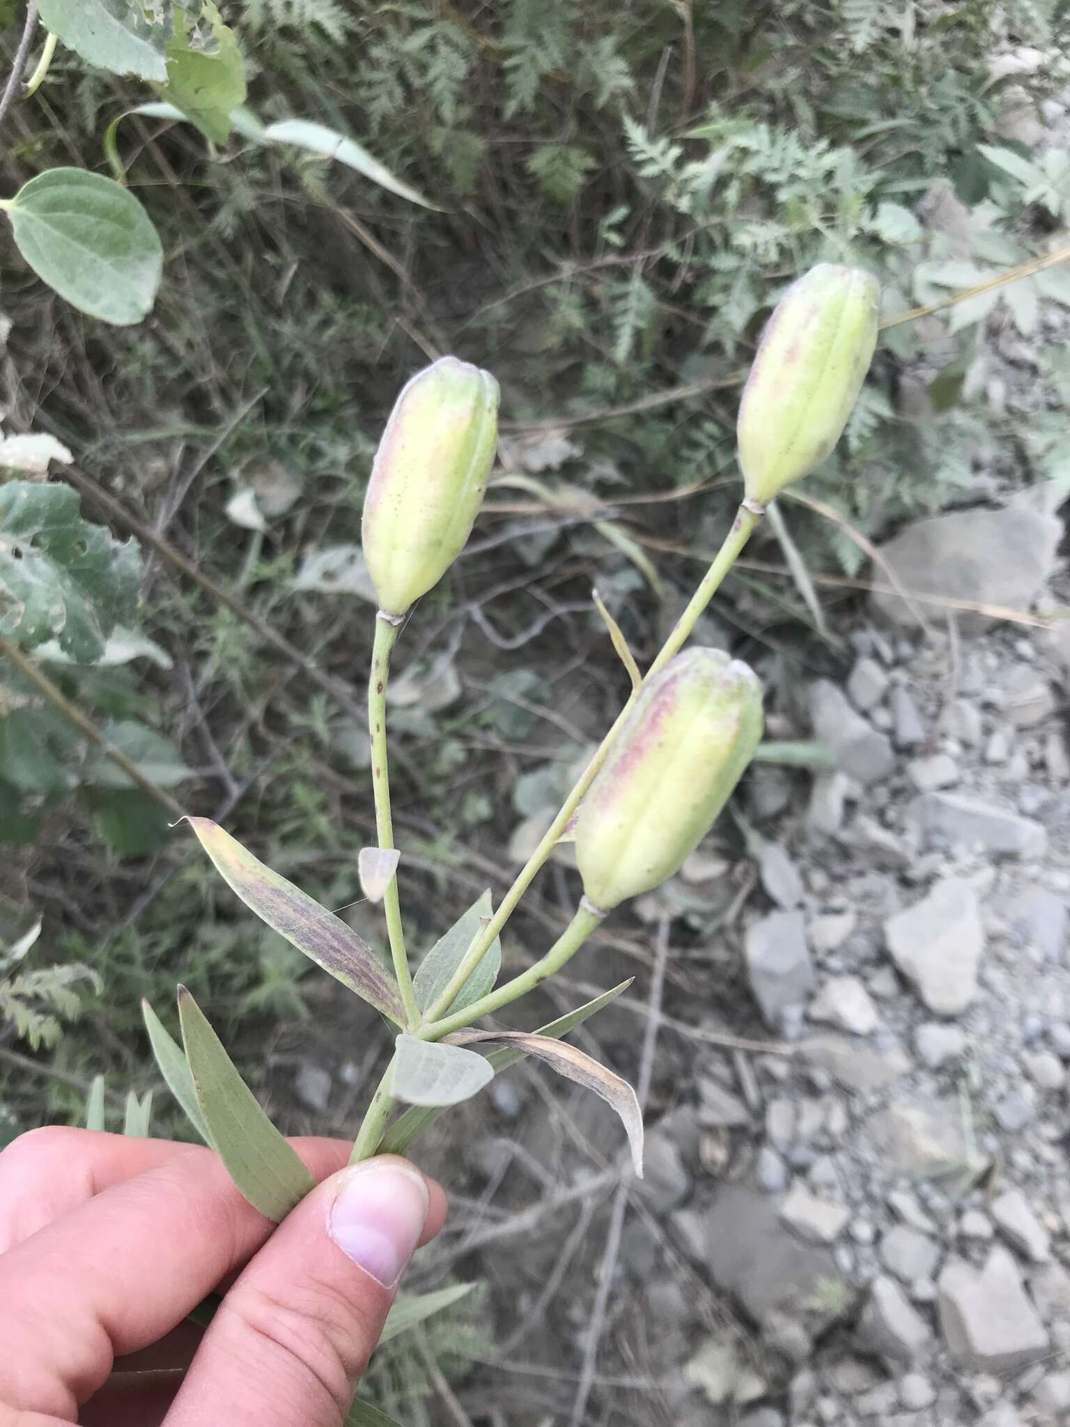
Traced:
<path id="1" fill-rule="evenodd" d="M 829 1249 L 805 1243 L 758 1190 L 723 1184 L 706 1219 L 713 1283 L 759 1326 L 789 1319 L 807 1337 L 842 1317 L 852 1294 Z"/>

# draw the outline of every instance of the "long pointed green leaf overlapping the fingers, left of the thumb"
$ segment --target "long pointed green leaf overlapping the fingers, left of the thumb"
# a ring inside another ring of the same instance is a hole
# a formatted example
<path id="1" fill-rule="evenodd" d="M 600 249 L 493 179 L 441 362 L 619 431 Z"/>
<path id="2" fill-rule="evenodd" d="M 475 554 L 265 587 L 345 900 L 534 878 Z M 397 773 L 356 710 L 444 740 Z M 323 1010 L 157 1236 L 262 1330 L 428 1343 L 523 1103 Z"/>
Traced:
<path id="1" fill-rule="evenodd" d="M 255 1210 L 281 1223 L 315 1180 L 238 1075 L 190 992 L 178 987 L 178 1019 L 197 1103 L 227 1173 Z"/>

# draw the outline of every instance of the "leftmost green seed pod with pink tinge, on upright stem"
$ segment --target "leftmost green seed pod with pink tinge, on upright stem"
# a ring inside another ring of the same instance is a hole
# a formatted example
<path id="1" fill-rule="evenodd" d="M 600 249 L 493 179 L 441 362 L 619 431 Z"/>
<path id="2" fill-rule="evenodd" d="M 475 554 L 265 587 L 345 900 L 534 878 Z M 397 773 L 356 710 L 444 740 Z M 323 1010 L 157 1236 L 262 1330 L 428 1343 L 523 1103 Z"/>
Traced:
<path id="1" fill-rule="evenodd" d="M 498 382 L 457 357 L 394 404 L 364 498 L 362 544 L 384 614 L 399 616 L 465 547 L 498 444 Z"/>

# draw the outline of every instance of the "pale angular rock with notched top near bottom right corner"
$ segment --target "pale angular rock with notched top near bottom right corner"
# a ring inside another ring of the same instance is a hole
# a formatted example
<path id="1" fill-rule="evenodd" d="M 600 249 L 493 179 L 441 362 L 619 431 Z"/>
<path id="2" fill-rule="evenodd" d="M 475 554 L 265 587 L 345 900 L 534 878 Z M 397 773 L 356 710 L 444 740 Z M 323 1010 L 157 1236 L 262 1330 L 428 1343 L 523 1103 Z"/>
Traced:
<path id="1" fill-rule="evenodd" d="M 973 1373 L 1013 1373 L 1049 1350 L 1014 1259 L 994 1247 L 983 1269 L 950 1260 L 937 1283 L 937 1310 L 947 1351 Z"/>

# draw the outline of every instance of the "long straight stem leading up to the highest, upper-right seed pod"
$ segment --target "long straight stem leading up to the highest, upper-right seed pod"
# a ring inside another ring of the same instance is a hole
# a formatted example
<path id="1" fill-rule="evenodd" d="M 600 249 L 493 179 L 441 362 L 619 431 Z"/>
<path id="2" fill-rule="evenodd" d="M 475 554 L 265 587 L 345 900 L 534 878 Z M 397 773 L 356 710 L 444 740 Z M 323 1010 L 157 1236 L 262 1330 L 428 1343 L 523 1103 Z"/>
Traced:
<path id="1" fill-rule="evenodd" d="M 692 629 L 695 628 L 695 624 L 696 624 L 699 615 L 703 612 L 703 609 L 706 608 L 706 605 L 710 602 L 710 599 L 716 594 L 719 585 L 725 579 L 725 575 L 728 575 L 729 569 L 735 564 L 736 557 L 739 555 L 739 552 L 746 545 L 748 539 L 750 538 L 750 534 L 753 532 L 753 529 L 758 525 L 758 522 L 759 522 L 760 518 L 762 518 L 762 512 L 760 511 L 752 511 L 746 505 L 740 505 L 739 507 L 739 509 L 736 511 L 736 518 L 732 522 L 732 529 L 725 537 L 725 541 L 723 541 L 720 549 L 718 551 L 718 554 L 713 558 L 713 564 L 709 567 L 709 569 L 706 571 L 706 574 L 705 574 L 705 577 L 702 579 L 702 584 L 699 585 L 699 588 L 692 595 L 691 602 L 688 604 L 688 608 L 679 616 L 679 619 L 676 621 L 676 624 L 675 624 L 675 626 L 672 629 L 672 634 L 669 635 L 669 638 L 662 645 L 661 652 L 658 654 L 658 658 L 653 661 L 653 664 L 651 665 L 651 668 L 646 671 L 646 676 L 645 676 L 646 679 L 649 679 L 651 675 L 656 674 L 661 668 L 663 668 L 669 662 L 669 659 L 675 654 L 679 652 L 679 649 L 682 648 L 682 645 L 685 644 L 685 641 L 691 635 Z M 591 762 L 586 765 L 586 768 L 584 769 L 584 772 L 579 775 L 579 779 L 578 779 L 576 785 L 574 786 L 572 792 L 568 795 L 568 798 L 562 803 L 561 812 L 558 812 L 556 818 L 554 819 L 554 822 L 546 829 L 546 833 L 542 838 L 542 841 L 539 842 L 538 848 L 535 848 L 535 850 L 532 852 L 532 855 L 528 858 L 528 860 L 525 862 L 525 865 L 521 868 L 521 870 L 519 870 L 519 873 L 516 876 L 516 880 L 512 883 L 512 886 L 509 888 L 509 890 L 505 893 L 505 896 L 502 898 L 502 902 L 501 902 L 498 910 L 494 913 L 494 916 L 491 918 L 491 920 L 488 922 L 488 925 L 484 928 L 482 936 L 479 936 L 478 940 L 475 940 L 472 943 L 472 946 L 469 948 L 469 950 L 465 953 L 464 960 L 461 962 L 461 965 L 454 972 L 454 976 L 451 977 L 449 985 L 445 987 L 445 990 L 438 997 L 438 1000 L 434 1003 L 434 1006 L 431 1006 L 428 1009 L 427 1019 L 429 1022 L 434 1022 L 437 1016 L 441 1016 L 454 1003 L 454 1000 L 457 997 L 457 993 L 461 990 L 461 987 L 465 985 L 465 982 L 472 975 L 472 972 L 475 970 L 475 968 L 484 959 L 484 956 L 486 955 L 486 950 L 491 946 L 491 943 L 494 942 L 495 936 L 498 936 L 498 933 L 501 932 L 501 929 L 505 926 L 505 923 L 512 916 L 512 913 L 514 913 L 514 910 L 516 908 L 516 903 L 521 900 L 521 898 L 524 896 L 524 893 L 528 890 L 528 888 L 531 886 L 531 882 L 532 882 L 535 873 L 539 870 L 539 868 L 542 866 L 542 863 L 551 855 L 551 852 L 554 850 L 554 846 L 555 846 L 558 838 L 561 838 L 562 832 L 568 826 L 568 821 L 572 816 L 572 813 L 576 811 L 576 808 L 579 806 L 579 803 L 581 803 L 581 801 L 584 798 L 584 793 L 588 791 L 588 788 L 591 786 L 591 783 L 595 781 L 595 773 L 599 771 L 599 768 L 605 762 L 606 753 L 609 752 L 609 749 L 611 749 L 611 746 L 613 743 L 613 739 L 621 732 L 621 728 L 622 728 L 625 719 L 628 718 L 629 712 L 632 711 L 632 706 L 633 706 L 635 701 L 638 699 L 641 691 L 642 691 L 642 685 L 639 685 L 639 688 L 632 689 L 632 694 L 631 694 L 628 702 L 625 704 L 625 706 L 621 709 L 621 714 L 618 715 L 616 722 L 609 729 L 609 732 L 606 733 L 606 736 L 602 739 L 602 743 L 598 748 L 598 752 L 593 755 L 593 758 L 591 759 Z M 509 999 L 512 999 L 512 997 L 509 997 Z M 478 1003 L 478 1005 L 481 1005 L 481 1003 Z M 464 1022 L 464 1023 L 467 1025 L 467 1022 Z M 454 1029 L 454 1027 L 451 1027 L 451 1029 Z"/>

